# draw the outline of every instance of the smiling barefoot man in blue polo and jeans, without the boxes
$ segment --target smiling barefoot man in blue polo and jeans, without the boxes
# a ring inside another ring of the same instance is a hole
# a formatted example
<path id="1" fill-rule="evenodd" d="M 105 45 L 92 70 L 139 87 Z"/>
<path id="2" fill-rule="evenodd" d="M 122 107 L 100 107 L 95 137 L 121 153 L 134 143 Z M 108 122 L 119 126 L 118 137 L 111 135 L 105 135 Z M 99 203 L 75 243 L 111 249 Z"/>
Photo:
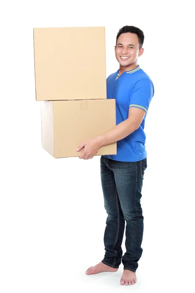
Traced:
<path id="1" fill-rule="evenodd" d="M 138 260 L 142 254 L 143 216 L 140 205 L 144 171 L 145 117 L 154 95 L 149 76 L 137 63 L 144 49 L 143 32 L 134 26 L 119 29 L 115 53 L 120 66 L 107 78 L 107 99 L 116 99 L 117 126 L 81 144 L 80 159 L 92 159 L 99 147 L 117 142 L 117 155 L 101 156 L 101 183 L 108 217 L 104 233 L 105 256 L 86 274 L 116 272 L 122 261 L 121 285 L 136 283 Z M 126 252 L 121 244 L 126 221 Z"/>

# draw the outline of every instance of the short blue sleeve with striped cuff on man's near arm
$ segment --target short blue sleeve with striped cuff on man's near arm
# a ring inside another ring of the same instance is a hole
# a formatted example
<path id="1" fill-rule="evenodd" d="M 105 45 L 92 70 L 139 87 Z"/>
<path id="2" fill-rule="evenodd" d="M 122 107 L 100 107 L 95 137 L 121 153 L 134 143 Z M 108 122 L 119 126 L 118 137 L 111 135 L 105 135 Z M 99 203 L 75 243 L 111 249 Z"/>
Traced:
<path id="1" fill-rule="evenodd" d="M 146 113 L 154 96 L 154 85 L 150 79 L 142 79 L 138 81 L 132 92 L 130 93 L 129 107 L 143 109 Z"/>

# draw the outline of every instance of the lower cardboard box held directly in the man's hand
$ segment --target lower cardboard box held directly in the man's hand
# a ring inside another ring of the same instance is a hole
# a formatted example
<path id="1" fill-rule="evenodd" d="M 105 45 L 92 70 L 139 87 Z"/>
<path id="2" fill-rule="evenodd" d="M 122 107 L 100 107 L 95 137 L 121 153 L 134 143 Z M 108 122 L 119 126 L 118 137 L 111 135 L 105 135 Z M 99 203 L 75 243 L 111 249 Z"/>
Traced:
<path id="1" fill-rule="evenodd" d="M 41 101 L 42 147 L 54 158 L 79 157 L 78 146 L 116 126 L 116 101 Z M 117 154 L 117 143 L 97 155 Z"/>

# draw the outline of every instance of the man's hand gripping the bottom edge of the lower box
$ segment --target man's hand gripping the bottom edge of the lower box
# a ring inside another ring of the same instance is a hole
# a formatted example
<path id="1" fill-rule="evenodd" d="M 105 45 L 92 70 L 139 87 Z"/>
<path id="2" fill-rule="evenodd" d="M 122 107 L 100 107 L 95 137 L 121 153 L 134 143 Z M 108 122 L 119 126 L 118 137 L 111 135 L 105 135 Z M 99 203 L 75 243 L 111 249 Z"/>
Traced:
<path id="1" fill-rule="evenodd" d="M 82 154 L 79 159 L 89 160 L 93 159 L 93 157 L 97 154 L 99 148 L 101 146 L 100 139 L 94 138 L 89 139 L 86 142 L 82 143 L 78 146 L 77 151 L 83 148 Z"/>

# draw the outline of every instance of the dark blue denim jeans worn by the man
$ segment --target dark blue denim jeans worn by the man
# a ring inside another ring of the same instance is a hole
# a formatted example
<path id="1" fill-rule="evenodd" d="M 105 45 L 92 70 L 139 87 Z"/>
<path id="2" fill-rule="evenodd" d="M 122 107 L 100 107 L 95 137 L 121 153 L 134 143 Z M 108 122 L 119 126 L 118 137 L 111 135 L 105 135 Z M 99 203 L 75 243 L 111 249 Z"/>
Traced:
<path id="1" fill-rule="evenodd" d="M 142 254 L 143 215 L 140 204 L 141 188 L 147 159 L 119 162 L 100 158 L 104 207 L 108 214 L 104 233 L 105 255 L 102 262 L 112 268 L 122 264 L 124 270 L 136 272 Z M 122 256 L 125 230 L 126 252 Z"/>

